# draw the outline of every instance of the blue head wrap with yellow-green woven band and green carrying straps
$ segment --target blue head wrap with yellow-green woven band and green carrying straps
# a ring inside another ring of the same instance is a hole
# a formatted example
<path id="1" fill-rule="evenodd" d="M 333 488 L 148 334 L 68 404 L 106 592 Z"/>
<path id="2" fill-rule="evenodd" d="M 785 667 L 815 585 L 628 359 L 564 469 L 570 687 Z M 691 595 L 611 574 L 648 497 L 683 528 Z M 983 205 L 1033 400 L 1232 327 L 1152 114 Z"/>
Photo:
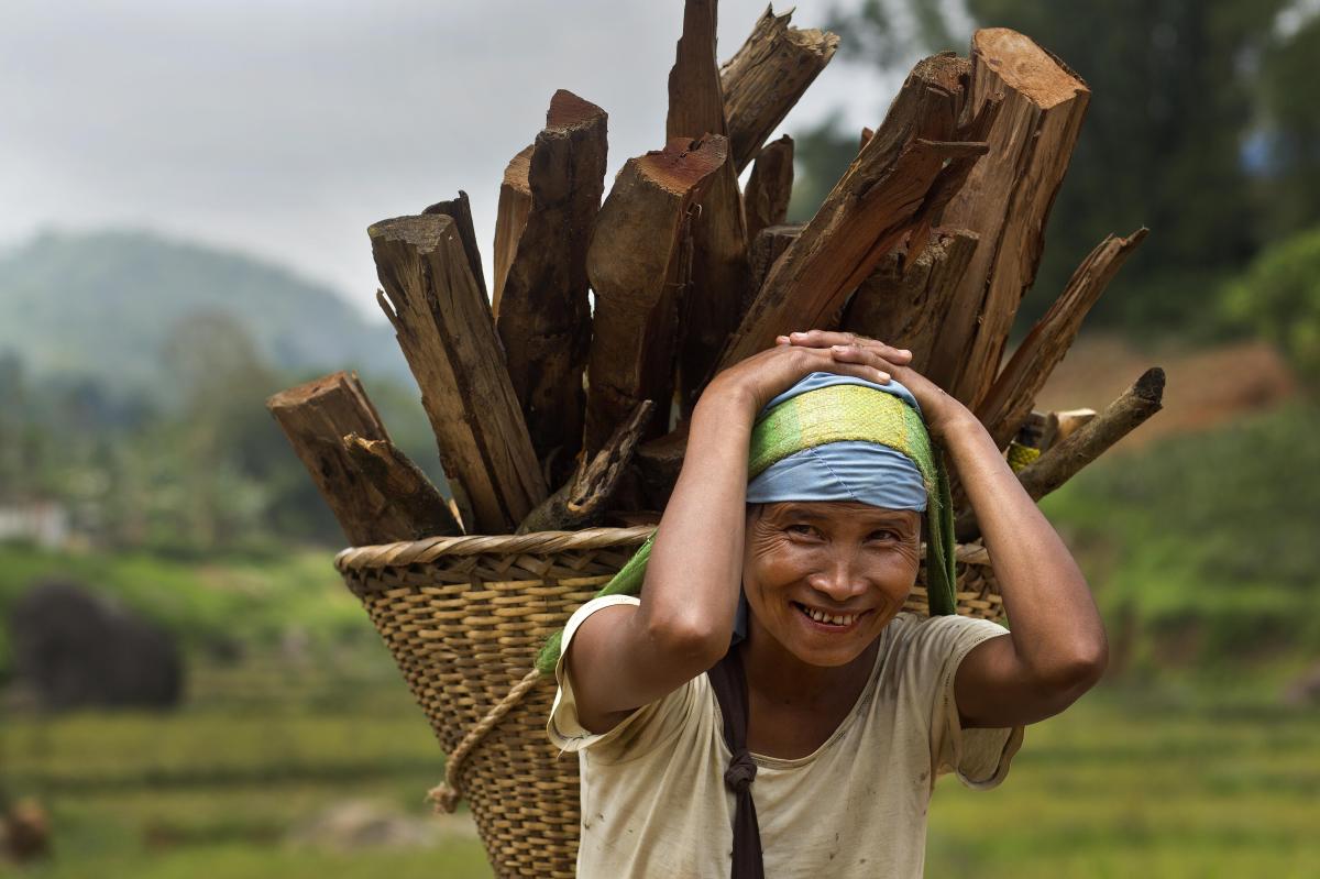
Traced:
<path id="1" fill-rule="evenodd" d="M 931 614 L 954 612 L 949 480 L 921 408 L 898 381 L 812 372 L 762 409 L 747 478 L 748 503 L 859 500 L 925 511 Z M 652 535 L 597 595 L 639 594 L 653 541 Z M 561 636 L 556 632 L 537 657 L 545 673 L 554 670 Z"/>

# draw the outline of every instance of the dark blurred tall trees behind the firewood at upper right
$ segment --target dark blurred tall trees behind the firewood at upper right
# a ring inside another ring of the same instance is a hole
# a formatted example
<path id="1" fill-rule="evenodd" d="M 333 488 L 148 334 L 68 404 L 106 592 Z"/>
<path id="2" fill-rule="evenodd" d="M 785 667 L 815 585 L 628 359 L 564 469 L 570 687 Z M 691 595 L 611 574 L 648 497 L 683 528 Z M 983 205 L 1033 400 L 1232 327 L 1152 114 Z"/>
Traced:
<path id="1" fill-rule="evenodd" d="M 1320 84 L 1311 62 L 1320 16 L 1280 33 L 1279 12 L 1294 5 L 968 0 L 977 25 L 1031 36 L 1092 88 L 1019 330 L 1044 313 L 1106 234 L 1148 226 L 1150 238 L 1090 323 L 1134 335 L 1209 331 L 1206 292 L 1251 259 L 1262 231 L 1320 219 L 1320 123 L 1311 99 Z M 842 36 L 842 58 L 894 70 L 912 63 L 912 46 L 966 54 L 948 9 L 935 0 L 867 0 L 830 26 Z M 799 136 L 807 181 L 795 190 L 795 216 L 814 211 L 854 149 L 855 133 L 841 131 L 837 117 Z"/>

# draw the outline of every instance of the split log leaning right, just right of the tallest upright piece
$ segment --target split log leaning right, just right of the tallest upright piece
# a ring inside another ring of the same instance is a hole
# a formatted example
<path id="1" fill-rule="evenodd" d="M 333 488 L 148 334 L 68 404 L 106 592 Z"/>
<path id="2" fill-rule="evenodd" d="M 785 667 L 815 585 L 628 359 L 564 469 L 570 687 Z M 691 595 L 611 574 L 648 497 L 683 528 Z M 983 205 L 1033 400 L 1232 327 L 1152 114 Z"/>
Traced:
<path id="1" fill-rule="evenodd" d="M 747 41 L 719 69 L 729 152 L 741 174 L 838 49 L 838 36 L 788 25 L 766 7 Z"/>

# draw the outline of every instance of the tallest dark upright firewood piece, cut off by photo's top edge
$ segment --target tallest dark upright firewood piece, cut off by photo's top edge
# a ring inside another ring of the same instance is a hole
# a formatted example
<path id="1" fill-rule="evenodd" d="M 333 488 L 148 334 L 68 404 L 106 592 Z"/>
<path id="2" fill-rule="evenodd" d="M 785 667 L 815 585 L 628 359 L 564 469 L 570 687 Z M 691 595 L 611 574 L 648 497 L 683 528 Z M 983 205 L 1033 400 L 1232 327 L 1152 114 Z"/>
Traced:
<path id="1" fill-rule="evenodd" d="M 669 70 L 665 137 L 727 135 L 715 65 L 715 0 L 686 0 Z M 692 220 L 692 264 L 678 322 L 678 399 L 694 405 L 746 304 L 747 227 L 733 158 L 711 176 Z"/>

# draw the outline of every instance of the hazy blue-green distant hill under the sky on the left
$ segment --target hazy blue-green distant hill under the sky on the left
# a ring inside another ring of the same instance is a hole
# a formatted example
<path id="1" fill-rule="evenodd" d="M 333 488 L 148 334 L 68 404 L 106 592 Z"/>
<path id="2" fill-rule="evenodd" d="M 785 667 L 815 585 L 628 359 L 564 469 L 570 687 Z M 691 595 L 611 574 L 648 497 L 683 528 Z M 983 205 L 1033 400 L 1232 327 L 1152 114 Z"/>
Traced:
<path id="1" fill-rule="evenodd" d="M 158 387 L 166 342 L 224 313 L 280 370 L 356 368 L 411 381 L 393 331 L 279 265 L 149 232 L 49 232 L 0 255 L 0 355 L 40 376 Z"/>

